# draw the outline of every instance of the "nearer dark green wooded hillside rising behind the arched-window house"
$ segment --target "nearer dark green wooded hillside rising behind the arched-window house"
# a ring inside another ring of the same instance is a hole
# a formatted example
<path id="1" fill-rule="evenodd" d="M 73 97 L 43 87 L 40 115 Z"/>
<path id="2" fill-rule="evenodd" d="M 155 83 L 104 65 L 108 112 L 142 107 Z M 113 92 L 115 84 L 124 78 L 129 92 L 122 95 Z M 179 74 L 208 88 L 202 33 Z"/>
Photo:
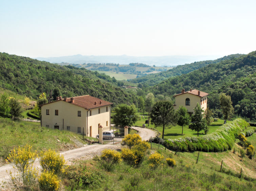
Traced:
<path id="1" fill-rule="evenodd" d="M 150 91 L 172 96 L 183 88 L 209 93 L 208 107 L 216 110 L 220 108 L 219 94 L 224 92 L 231 96 L 236 115 L 256 121 L 256 51 L 166 79 Z"/>

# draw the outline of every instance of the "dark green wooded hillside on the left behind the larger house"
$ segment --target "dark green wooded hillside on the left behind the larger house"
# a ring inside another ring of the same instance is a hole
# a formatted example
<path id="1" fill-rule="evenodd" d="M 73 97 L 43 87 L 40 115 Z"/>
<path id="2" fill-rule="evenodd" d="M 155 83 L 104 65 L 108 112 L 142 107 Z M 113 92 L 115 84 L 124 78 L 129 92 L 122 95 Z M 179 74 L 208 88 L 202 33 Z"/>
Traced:
<path id="1" fill-rule="evenodd" d="M 90 94 L 114 105 L 137 105 L 136 92 L 118 87 L 115 78 L 7 53 L 0 53 L 0 82 L 2 88 L 35 99 L 41 92 L 54 91 L 62 97 Z"/>

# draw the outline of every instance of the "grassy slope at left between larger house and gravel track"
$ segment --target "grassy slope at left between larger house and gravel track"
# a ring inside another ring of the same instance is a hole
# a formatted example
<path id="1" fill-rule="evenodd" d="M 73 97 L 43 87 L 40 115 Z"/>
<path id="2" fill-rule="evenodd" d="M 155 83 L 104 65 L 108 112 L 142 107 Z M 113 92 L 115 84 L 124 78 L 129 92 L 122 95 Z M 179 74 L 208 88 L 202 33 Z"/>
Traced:
<path id="1" fill-rule="evenodd" d="M 82 135 L 59 131 L 40 126 L 37 122 L 12 121 L 0 118 L 0 164 L 8 156 L 9 151 L 18 146 L 32 145 L 34 150 L 44 151 L 54 149 L 55 151 L 66 151 L 87 144 L 82 140 Z M 92 137 L 85 137 L 94 139 Z"/>

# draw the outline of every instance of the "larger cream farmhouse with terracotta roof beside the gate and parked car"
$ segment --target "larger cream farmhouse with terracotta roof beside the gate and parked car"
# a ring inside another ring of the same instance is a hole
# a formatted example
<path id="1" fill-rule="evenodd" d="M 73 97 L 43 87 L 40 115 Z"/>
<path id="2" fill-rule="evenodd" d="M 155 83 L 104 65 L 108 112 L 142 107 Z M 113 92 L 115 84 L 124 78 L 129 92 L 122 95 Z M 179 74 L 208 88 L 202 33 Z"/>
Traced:
<path id="1" fill-rule="evenodd" d="M 56 101 L 41 105 L 41 125 L 95 137 L 100 125 L 110 127 L 112 104 L 89 95 L 57 97 Z"/>

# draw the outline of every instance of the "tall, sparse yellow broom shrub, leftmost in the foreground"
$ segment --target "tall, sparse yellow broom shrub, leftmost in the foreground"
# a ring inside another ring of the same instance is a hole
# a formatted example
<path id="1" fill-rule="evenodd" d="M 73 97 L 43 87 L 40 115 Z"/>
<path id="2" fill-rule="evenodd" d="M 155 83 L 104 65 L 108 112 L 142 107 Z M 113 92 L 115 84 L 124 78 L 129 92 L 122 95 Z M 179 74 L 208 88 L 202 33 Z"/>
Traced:
<path id="1" fill-rule="evenodd" d="M 14 163 L 19 173 L 9 172 L 12 182 L 17 187 L 22 186 L 26 189 L 32 189 L 36 184 L 36 179 L 38 172 L 35 168 L 32 167 L 33 163 L 36 160 L 36 152 L 31 151 L 32 146 L 25 145 L 24 147 L 18 147 L 13 149 L 8 161 Z"/>

